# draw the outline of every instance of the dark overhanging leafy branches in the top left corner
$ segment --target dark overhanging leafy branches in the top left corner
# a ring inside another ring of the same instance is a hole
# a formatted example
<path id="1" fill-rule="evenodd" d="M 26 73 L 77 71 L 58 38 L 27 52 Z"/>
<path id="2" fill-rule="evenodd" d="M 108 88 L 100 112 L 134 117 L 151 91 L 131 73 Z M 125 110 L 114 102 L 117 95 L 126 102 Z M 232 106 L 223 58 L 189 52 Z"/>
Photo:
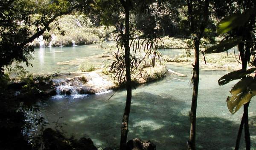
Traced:
<path id="1" fill-rule="evenodd" d="M 34 52 L 29 43 L 38 38 L 56 17 L 70 13 L 73 7 L 67 0 L 3 0 L 0 3 L 0 68 L 14 61 L 26 62 Z M 31 27 L 35 29 L 30 31 Z"/>

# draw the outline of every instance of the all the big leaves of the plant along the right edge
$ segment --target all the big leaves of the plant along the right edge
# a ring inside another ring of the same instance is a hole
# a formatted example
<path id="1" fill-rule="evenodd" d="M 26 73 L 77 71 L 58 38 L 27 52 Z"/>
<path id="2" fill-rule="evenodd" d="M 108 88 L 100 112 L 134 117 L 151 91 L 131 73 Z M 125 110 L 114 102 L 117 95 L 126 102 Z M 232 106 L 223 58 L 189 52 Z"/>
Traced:
<path id="1" fill-rule="evenodd" d="M 218 29 L 217 32 L 218 34 L 224 34 L 224 33 L 229 33 L 230 35 L 224 38 L 220 43 L 217 45 L 211 46 L 208 49 L 204 51 L 204 53 L 219 53 L 219 52 L 225 52 L 228 49 L 233 48 L 234 46 L 241 44 L 244 42 L 244 36 L 237 36 L 234 35 L 233 32 L 237 32 L 240 28 L 242 29 L 243 26 L 248 23 L 248 20 L 250 18 L 250 14 L 255 14 L 252 10 L 245 11 L 243 13 L 234 13 L 231 14 L 230 16 L 225 17 L 218 23 Z M 254 16 L 255 17 L 255 16 Z M 255 22 L 255 18 L 254 18 Z M 248 43 L 253 43 L 252 41 L 247 41 Z M 247 49 L 250 49 L 251 52 L 249 52 L 249 55 L 254 54 L 254 49 L 253 49 L 253 44 L 250 44 L 250 47 L 248 45 Z M 239 49 L 241 53 L 244 53 L 244 49 Z M 241 54 L 240 54 L 241 55 Z M 242 54 L 244 55 L 244 54 Z M 240 56 L 241 57 L 241 56 Z M 248 56 L 247 56 L 248 57 Z M 249 56 L 250 58 L 250 56 Z M 242 58 L 244 59 L 244 58 Z M 253 59 L 254 61 L 254 59 Z M 246 62 L 247 63 L 247 62 Z M 255 68 L 251 68 L 249 70 L 241 69 L 235 72 L 230 72 L 227 75 L 224 75 L 219 79 L 219 85 L 224 85 L 227 84 L 228 82 L 235 80 L 235 79 L 240 79 L 242 77 L 245 77 L 245 75 L 253 73 L 255 71 Z M 247 80 L 247 79 L 246 79 Z M 243 82 L 242 82 L 243 81 Z M 250 87 L 250 83 L 247 83 L 248 85 L 245 86 L 243 85 L 245 80 L 239 81 L 230 91 L 231 94 L 233 95 L 232 97 L 227 98 L 227 106 L 230 110 L 230 112 L 236 113 L 237 110 L 243 105 L 246 104 L 247 102 L 250 101 L 250 96 L 246 94 L 246 92 L 250 92 L 249 89 L 244 90 L 247 87 Z M 241 84 L 242 83 L 242 84 Z M 241 86 L 242 85 L 242 86 Z M 241 89 L 238 89 L 241 88 Z M 249 90 L 249 91 L 248 91 Z M 241 94 L 242 93 L 242 94 Z M 247 96 L 244 98 L 244 95 Z M 234 102 L 236 101 L 236 102 Z M 231 104 L 232 103 L 232 104 Z M 235 110 L 233 110 L 236 107 Z"/>

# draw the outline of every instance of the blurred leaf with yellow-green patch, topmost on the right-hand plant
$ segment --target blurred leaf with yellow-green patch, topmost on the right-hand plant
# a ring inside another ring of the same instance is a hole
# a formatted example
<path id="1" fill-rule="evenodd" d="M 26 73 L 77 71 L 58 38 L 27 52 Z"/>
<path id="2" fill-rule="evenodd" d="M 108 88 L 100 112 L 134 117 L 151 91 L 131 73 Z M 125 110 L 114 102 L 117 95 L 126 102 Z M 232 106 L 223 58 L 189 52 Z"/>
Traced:
<path id="1" fill-rule="evenodd" d="M 250 17 L 249 11 L 246 11 L 242 14 L 236 13 L 231 14 L 230 16 L 225 17 L 218 23 L 217 33 L 218 35 L 224 34 L 226 32 L 235 29 L 236 27 L 243 26 Z"/>

